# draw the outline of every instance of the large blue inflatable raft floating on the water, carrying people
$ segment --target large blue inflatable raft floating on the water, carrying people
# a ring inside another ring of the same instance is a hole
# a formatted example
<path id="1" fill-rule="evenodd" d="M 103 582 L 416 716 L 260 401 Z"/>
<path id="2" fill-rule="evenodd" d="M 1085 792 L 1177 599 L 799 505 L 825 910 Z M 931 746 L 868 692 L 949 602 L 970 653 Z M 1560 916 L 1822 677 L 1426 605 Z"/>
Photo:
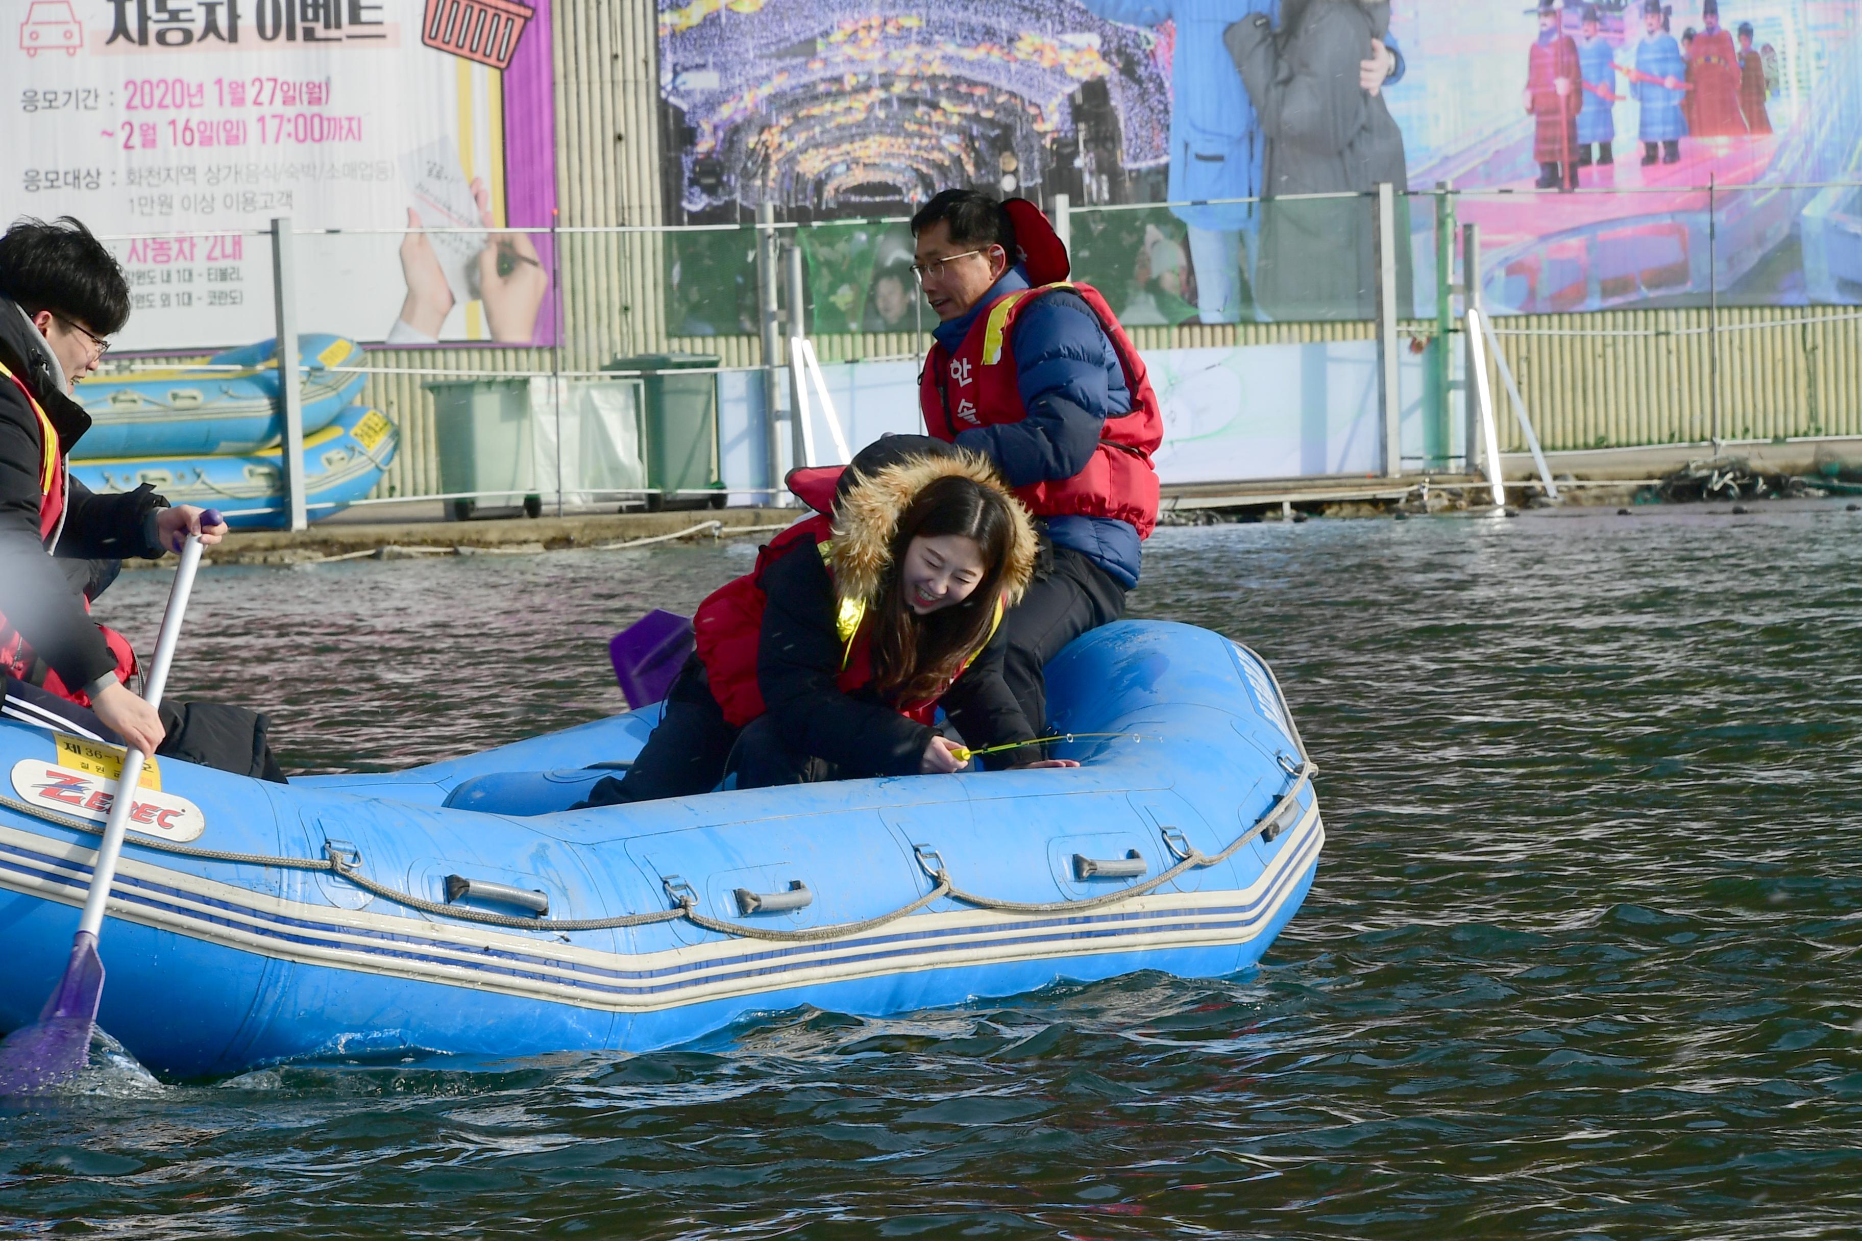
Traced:
<path id="1" fill-rule="evenodd" d="M 1080 768 L 590 811 L 564 809 L 607 774 L 583 768 L 637 752 L 657 709 L 289 787 L 160 759 L 112 889 L 99 1020 L 149 1068 L 199 1077 L 650 1049 L 799 1005 L 890 1014 L 1253 966 L 1326 835 L 1266 664 L 1121 621 L 1050 664 L 1048 696 Z M 65 966 L 110 763 L 0 720 L 0 1029 Z"/>

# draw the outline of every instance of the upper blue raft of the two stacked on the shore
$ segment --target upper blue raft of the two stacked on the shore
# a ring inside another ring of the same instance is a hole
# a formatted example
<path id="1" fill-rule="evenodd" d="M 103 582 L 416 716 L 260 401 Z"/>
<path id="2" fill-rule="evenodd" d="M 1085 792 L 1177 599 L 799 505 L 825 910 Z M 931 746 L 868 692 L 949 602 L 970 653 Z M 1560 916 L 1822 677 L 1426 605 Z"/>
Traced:
<path id="1" fill-rule="evenodd" d="M 304 367 L 304 434 L 330 426 L 356 400 L 367 376 L 361 348 L 331 335 L 298 337 Z M 91 430 L 73 460 L 240 454 L 283 437 L 277 406 L 277 340 L 214 354 L 201 367 L 132 370 L 78 385 Z"/>

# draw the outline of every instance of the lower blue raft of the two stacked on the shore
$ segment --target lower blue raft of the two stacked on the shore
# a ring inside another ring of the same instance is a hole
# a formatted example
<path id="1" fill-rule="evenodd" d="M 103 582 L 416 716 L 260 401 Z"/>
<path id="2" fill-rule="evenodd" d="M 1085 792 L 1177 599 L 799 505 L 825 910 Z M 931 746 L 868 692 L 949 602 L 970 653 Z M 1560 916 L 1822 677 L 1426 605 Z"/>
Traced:
<path id="1" fill-rule="evenodd" d="M 328 426 L 304 437 L 304 493 L 311 521 L 343 512 L 380 482 L 395 460 L 400 435 L 382 413 L 365 406 L 343 409 Z M 236 528 L 283 525 L 283 452 L 248 456 L 123 458 L 73 461 L 71 476 L 97 493 L 134 491 L 151 484 L 169 504 L 218 508 Z"/>

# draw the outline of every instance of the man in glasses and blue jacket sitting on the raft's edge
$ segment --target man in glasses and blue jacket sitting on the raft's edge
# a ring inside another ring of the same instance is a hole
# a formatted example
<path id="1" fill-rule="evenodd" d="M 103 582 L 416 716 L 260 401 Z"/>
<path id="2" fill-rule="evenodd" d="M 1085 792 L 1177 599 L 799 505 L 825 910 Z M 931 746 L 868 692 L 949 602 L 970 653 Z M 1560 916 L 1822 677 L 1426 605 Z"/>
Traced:
<path id="1" fill-rule="evenodd" d="M 1164 419 L 1143 359 L 1041 208 L 944 190 L 912 216 L 912 272 L 938 316 L 920 376 L 925 428 L 996 463 L 1037 517 L 1041 562 L 1002 627 L 1004 679 L 1037 729 L 1043 666 L 1125 614 L 1158 514 Z"/>

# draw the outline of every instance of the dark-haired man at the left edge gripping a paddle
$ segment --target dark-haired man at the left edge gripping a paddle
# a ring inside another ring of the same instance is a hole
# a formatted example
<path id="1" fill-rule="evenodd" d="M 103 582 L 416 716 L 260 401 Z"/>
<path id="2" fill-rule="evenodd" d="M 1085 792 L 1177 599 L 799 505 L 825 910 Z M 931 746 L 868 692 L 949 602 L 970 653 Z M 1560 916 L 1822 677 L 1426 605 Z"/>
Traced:
<path id="1" fill-rule="evenodd" d="M 225 527 L 203 528 L 199 508 L 169 508 L 147 484 L 93 495 L 65 469 L 91 424 L 71 393 L 128 309 L 123 270 L 76 220 L 20 220 L 0 236 L 0 709 L 63 726 L 88 718 L 67 703 L 89 707 L 106 741 L 153 754 L 162 720 L 125 685 L 136 655 L 91 623 L 89 599 L 114 562 L 156 558 L 188 534 L 218 543 Z"/>

